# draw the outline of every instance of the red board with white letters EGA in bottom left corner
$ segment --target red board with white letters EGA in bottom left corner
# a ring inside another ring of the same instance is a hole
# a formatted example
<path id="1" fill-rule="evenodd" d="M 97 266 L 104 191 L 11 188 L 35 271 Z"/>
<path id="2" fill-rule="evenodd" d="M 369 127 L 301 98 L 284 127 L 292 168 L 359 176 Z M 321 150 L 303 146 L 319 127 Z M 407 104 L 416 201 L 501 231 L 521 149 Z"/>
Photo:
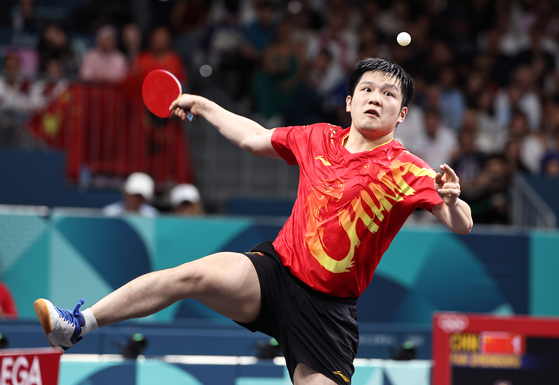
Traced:
<path id="1" fill-rule="evenodd" d="M 0 350 L 0 384 L 57 385 L 61 349 Z"/>

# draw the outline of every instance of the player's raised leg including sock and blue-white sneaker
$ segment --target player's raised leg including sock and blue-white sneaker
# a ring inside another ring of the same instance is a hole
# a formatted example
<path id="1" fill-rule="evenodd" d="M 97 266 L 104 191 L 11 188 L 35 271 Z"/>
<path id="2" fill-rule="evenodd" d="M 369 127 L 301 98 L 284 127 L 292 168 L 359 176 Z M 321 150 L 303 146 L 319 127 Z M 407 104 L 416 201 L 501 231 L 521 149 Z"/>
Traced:
<path id="1" fill-rule="evenodd" d="M 138 277 L 81 312 L 49 300 L 35 301 L 35 312 L 52 346 L 65 350 L 97 327 L 145 317 L 186 298 L 197 299 L 235 321 L 250 323 L 260 312 L 260 283 L 243 254 L 217 253 L 175 268 Z"/>

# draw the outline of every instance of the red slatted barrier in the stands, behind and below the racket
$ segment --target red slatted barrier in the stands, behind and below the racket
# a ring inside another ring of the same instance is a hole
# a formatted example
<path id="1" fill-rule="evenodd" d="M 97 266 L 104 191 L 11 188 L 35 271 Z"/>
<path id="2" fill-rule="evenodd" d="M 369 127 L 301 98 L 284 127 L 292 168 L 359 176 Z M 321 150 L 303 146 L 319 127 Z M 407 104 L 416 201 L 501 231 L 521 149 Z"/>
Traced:
<path id="1" fill-rule="evenodd" d="M 150 114 L 129 84 L 71 84 L 27 124 L 32 134 L 67 155 L 66 176 L 125 178 L 135 171 L 159 184 L 192 182 L 190 156 L 178 118 Z"/>

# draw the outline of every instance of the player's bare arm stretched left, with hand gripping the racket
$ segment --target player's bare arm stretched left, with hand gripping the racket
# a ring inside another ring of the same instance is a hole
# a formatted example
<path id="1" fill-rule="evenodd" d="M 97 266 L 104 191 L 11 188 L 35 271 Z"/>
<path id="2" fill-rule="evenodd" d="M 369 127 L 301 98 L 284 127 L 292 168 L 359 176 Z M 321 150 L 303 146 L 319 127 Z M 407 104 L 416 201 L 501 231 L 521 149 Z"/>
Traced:
<path id="1" fill-rule="evenodd" d="M 173 115 L 186 119 L 185 110 L 202 116 L 233 144 L 258 156 L 280 159 L 272 146 L 273 130 L 254 120 L 237 115 L 202 96 L 182 94 L 169 108 Z"/>

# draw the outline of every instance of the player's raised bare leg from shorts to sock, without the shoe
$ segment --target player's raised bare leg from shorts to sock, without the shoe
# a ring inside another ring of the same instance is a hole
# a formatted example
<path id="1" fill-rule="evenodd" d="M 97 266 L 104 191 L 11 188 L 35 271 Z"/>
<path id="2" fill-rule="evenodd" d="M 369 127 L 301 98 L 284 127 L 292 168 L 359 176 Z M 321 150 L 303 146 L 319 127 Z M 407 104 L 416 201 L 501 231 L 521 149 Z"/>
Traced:
<path id="1" fill-rule="evenodd" d="M 260 311 L 254 265 L 243 254 L 212 254 L 138 277 L 101 299 L 91 311 L 101 327 L 148 316 L 186 298 L 235 321 L 251 322 Z"/>

